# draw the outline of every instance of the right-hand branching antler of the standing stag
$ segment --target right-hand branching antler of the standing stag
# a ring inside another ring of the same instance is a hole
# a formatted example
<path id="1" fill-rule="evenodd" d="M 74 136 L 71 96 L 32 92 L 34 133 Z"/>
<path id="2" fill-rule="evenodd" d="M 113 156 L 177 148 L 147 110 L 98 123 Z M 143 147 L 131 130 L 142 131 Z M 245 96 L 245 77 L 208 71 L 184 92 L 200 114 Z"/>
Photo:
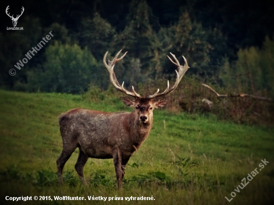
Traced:
<path id="1" fill-rule="evenodd" d="M 184 66 L 181 66 L 180 63 L 179 63 L 179 61 L 178 61 L 177 58 L 175 57 L 175 55 L 173 55 L 172 53 L 170 53 L 170 54 L 171 54 L 171 56 L 174 58 L 174 60 L 175 60 L 176 63 L 173 62 L 169 56 L 167 56 L 167 58 L 168 58 L 174 65 L 176 65 L 177 68 L 178 68 L 178 71 L 175 70 L 175 72 L 176 72 L 176 74 L 177 74 L 176 82 L 175 82 L 174 86 L 173 86 L 172 88 L 169 89 L 169 81 L 167 81 L 167 87 L 166 87 L 166 89 L 164 90 L 164 92 L 159 93 L 159 89 L 158 89 L 158 90 L 156 91 L 156 93 L 154 93 L 152 96 L 148 96 L 148 97 L 147 97 L 147 98 L 149 98 L 149 99 L 158 98 L 158 97 L 164 96 L 164 95 L 166 95 L 166 94 L 171 93 L 172 91 L 174 91 L 174 90 L 177 88 L 178 84 L 180 83 L 181 79 L 183 78 L 185 72 L 189 69 L 189 67 L 188 67 L 188 65 L 187 65 L 187 61 L 186 61 L 186 59 L 185 59 L 184 56 L 183 56 L 183 59 L 184 59 L 185 64 L 184 64 Z M 159 93 L 159 94 L 158 94 L 158 93 Z"/>

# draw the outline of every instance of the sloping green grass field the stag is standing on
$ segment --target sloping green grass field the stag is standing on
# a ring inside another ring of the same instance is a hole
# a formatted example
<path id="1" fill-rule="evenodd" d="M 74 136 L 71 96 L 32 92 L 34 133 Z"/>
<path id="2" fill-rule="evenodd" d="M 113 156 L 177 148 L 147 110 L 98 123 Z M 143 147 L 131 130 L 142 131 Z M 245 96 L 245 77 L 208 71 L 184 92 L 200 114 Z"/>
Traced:
<path id="1" fill-rule="evenodd" d="M 155 110 L 150 136 L 127 165 L 124 189 L 117 190 L 113 161 L 89 159 L 82 186 L 74 165 L 78 149 L 64 168 L 58 185 L 56 159 L 62 151 L 58 116 L 72 108 L 130 111 L 118 98 L 93 103 L 82 96 L 19 93 L 0 90 L 1 204 L 271 204 L 274 197 L 274 129 L 219 121 L 213 115 Z M 269 163 L 259 171 L 261 160 Z M 258 168 L 240 193 L 243 178 Z M 231 199 L 230 193 L 236 197 Z M 6 201 L 5 197 L 51 196 L 53 201 Z M 53 196 L 85 197 L 57 201 Z M 114 197 L 89 201 L 88 196 Z M 153 201 L 126 201 L 125 197 Z M 123 200 L 115 200 L 123 197 Z"/>

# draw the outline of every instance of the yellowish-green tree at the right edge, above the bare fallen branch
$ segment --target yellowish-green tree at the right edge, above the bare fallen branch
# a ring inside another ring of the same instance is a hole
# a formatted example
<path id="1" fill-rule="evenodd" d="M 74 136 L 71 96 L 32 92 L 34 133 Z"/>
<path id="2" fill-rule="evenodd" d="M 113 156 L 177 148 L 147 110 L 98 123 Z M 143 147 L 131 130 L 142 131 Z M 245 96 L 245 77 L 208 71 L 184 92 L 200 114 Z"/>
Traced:
<path id="1" fill-rule="evenodd" d="M 239 93 L 274 97 L 274 40 L 266 37 L 263 48 L 240 49 L 235 65 L 226 66 L 220 73 L 225 86 Z"/>

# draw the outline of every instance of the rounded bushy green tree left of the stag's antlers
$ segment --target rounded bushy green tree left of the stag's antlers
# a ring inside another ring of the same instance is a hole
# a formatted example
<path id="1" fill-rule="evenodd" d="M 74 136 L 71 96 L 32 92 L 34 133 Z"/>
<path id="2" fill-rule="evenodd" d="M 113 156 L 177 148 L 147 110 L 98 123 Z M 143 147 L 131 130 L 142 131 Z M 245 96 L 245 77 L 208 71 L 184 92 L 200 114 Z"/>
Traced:
<path id="1" fill-rule="evenodd" d="M 98 66 L 87 48 L 55 42 L 45 52 L 44 72 L 29 72 L 30 91 L 77 94 L 97 81 Z"/>

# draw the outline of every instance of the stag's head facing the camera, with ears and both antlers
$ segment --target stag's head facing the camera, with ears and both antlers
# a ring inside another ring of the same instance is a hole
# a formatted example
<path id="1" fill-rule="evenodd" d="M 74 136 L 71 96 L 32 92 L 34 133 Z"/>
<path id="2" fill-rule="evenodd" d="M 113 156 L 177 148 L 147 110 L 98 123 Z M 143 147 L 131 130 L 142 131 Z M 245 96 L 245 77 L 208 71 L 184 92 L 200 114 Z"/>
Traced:
<path id="1" fill-rule="evenodd" d="M 122 93 L 125 93 L 125 94 L 135 98 L 135 100 L 121 98 L 123 103 L 125 103 L 127 106 L 135 107 L 135 111 L 133 111 L 133 113 L 136 116 L 136 120 L 138 120 L 140 123 L 149 124 L 152 121 L 153 109 L 164 107 L 167 103 L 166 100 L 159 100 L 159 101 L 154 102 L 153 99 L 164 96 L 166 94 L 169 94 L 177 88 L 183 75 L 189 69 L 189 67 L 187 65 L 187 61 L 186 61 L 185 57 L 183 56 L 185 64 L 184 64 L 184 66 L 181 66 L 179 61 L 175 57 L 175 55 L 170 53 L 171 56 L 174 58 L 175 62 L 172 61 L 169 56 L 167 56 L 167 57 L 174 65 L 177 66 L 177 69 L 178 69 L 178 71 L 175 70 L 175 72 L 177 74 L 177 79 L 176 79 L 175 84 L 173 85 L 173 87 L 169 88 L 169 81 L 167 81 L 167 87 L 162 93 L 159 93 L 159 89 L 158 89 L 156 91 L 156 93 L 154 93 L 153 95 L 142 98 L 139 94 L 136 93 L 133 86 L 132 86 L 132 92 L 130 92 L 124 88 L 124 82 L 122 83 L 122 86 L 121 86 L 115 76 L 115 73 L 114 73 L 115 63 L 121 61 L 127 54 L 127 52 L 126 52 L 121 58 L 118 58 L 121 51 L 119 51 L 117 53 L 117 55 L 114 57 L 114 59 L 112 61 L 109 60 L 109 64 L 107 64 L 107 62 L 106 62 L 106 57 L 108 54 L 108 52 L 107 52 L 104 56 L 103 63 L 110 73 L 110 81 L 114 85 L 114 87 L 117 90 L 121 91 Z"/>

